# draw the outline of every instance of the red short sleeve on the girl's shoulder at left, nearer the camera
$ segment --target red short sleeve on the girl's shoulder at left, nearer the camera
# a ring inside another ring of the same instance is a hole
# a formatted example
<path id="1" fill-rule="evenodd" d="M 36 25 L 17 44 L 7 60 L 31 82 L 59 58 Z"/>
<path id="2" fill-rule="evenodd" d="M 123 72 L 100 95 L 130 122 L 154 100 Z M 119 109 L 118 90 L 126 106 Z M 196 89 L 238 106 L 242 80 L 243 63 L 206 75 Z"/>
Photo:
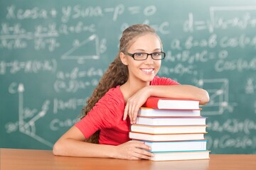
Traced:
<path id="1" fill-rule="evenodd" d="M 116 126 L 122 120 L 123 112 L 122 94 L 114 93 L 111 89 L 82 120 L 75 124 L 75 127 L 82 132 L 85 138 L 88 138 L 97 130 Z"/>

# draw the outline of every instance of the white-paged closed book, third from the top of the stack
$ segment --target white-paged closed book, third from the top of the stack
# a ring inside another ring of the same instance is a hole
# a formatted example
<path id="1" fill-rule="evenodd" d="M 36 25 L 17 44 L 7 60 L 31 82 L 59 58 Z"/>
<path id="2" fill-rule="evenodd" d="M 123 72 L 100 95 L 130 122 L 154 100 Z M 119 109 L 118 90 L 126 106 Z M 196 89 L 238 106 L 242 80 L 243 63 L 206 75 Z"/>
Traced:
<path id="1" fill-rule="evenodd" d="M 137 116 L 136 124 L 139 125 L 206 125 L 206 118 L 193 117 L 149 117 Z"/>

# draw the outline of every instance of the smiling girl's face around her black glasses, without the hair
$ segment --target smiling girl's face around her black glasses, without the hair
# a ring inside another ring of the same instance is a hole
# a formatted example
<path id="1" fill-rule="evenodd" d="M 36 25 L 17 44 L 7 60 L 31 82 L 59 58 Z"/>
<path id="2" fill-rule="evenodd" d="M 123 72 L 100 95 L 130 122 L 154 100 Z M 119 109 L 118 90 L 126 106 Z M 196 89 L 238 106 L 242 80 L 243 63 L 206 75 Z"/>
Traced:
<path id="1" fill-rule="evenodd" d="M 130 54 L 161 52 L 161 42 L 154 34 L 142 35 L 134 41 L 127 52 Z M 132 79 L 144 82 L 151 81 L 161 67 L 161 60 L 153 60 L 151 55 L 146 60 L 134 60 L 131 56 L 122 53 L 121 59 L 129 69 L 129 81 Z"/>

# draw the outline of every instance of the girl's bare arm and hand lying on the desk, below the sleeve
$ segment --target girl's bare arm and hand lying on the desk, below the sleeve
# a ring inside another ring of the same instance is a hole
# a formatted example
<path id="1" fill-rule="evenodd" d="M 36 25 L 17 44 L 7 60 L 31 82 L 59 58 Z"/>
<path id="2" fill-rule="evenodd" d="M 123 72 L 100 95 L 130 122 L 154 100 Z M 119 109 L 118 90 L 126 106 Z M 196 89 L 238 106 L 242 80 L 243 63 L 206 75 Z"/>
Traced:
<path id="1" fill-rule="evenodd" d="M 98 145 L 84 142 L 85 137 L 75 126 L 70 128 L 53 146 L 53 154 L 70 157 L 102 157 L 117 159 L 150 159 L 144 142 L 129 141 L 122 145 Z M 146 149 L 146 150 L 144 150 Z"/>

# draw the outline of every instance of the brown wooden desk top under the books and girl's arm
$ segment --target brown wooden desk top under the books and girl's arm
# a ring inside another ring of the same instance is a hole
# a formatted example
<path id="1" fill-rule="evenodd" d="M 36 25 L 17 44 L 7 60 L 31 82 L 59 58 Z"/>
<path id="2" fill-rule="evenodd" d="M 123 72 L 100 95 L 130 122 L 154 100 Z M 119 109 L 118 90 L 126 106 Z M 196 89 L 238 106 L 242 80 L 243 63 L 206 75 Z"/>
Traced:
<path id="1" fill-rule="evenodd" d="M 210 154 L 210 159 L 191 161 L 151 162 L 122 159 L 55 157 L 51 151 L 1 149 L 1 170 L 15 169 L 256 169 L 255 154 Z"/>

